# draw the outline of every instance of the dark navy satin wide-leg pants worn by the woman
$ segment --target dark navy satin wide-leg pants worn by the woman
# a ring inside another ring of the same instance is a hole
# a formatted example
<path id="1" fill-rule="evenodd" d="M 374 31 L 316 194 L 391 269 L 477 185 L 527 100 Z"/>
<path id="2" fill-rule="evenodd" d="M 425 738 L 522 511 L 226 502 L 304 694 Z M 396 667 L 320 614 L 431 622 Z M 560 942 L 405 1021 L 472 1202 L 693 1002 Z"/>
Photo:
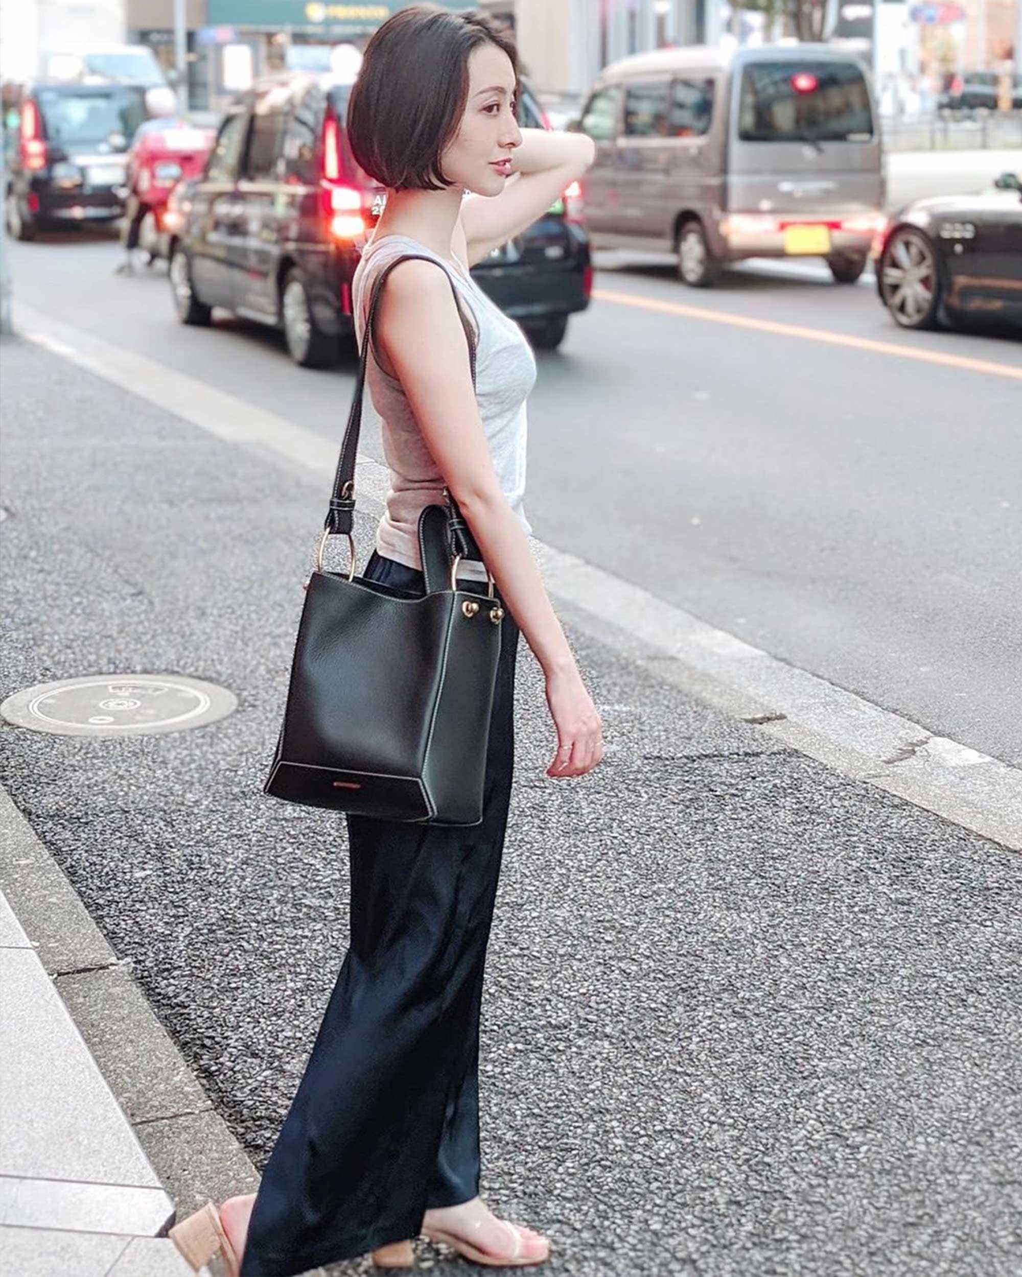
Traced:
<path id="1" fill-rule="evenodd" d="M 376 553 L 365 576 L 423 587 Z M 482 825 L 347 817 L 351 942 L 263 1171 L 241 1277 L 414 1237 L 424 1211 L 479 1191 L 479 1008 L 514 769 L 519 631 L 510 614 L 502 626 Z"/>

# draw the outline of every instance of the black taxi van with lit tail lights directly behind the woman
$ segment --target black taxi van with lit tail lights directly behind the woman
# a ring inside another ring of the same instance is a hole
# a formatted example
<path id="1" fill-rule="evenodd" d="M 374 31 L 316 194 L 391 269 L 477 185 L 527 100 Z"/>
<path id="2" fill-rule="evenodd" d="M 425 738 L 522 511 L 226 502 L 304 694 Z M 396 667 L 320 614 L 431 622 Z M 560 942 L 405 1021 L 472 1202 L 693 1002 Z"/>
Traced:
<path id="1" fill-rule="evenodd" d="M 258 86 L 227 114 L 201 179 L 175 207 L 170 277 L 183 323 L 213 306 L 284 329 L 305 366 L 333 361 L 354 329 L 351 277 L 383 190 L 355 162 L 345 117 L 350 86 L 290 75 Z M 521 94 L 521 123 L 542 109 Z M 557 346 L 589 304 L 589 238 L 577 190 L 479 263 L 480 287 L 535 345 Z"/>

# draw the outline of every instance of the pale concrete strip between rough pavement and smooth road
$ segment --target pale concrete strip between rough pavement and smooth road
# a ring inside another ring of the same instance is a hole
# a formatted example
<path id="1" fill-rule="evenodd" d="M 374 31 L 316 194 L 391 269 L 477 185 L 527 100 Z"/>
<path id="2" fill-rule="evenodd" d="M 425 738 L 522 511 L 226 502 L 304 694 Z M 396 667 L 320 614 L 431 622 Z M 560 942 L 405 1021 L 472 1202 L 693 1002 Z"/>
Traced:
<path id="1" fill-rule="evenodd" d="M 221 439 L 330 483 L 340 439 L 326 439 L 23 304 L 17 304 L 15 318 L 29 341 Z M 379 462 L 359 461 L 355 481 L 363 510 L 368 504 L 370 513 L 379 513 L 388 480 Z M 575 622 L 658 677 L 759 724 L 759 730 L 852 779 L 1022 850 L 1022 771 L 1017 767 L 935 737 L 585 559 L 539 541 L 535 547 L 551 593 L 571 607 Z"/>

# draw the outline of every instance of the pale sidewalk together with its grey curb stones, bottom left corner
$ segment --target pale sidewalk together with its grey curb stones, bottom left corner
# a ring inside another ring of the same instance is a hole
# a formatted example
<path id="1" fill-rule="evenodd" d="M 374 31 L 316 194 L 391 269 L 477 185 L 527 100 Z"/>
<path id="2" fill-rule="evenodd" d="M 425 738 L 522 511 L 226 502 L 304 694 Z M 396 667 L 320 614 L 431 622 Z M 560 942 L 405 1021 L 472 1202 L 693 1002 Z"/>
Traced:
<path id="1" fill-rule="evenodd" d="M 252 1191 L 258 1172 L 3 787 L 0 964 L 0 1071 L 14 1096 L 0 1133 L 9 1271 L 189 1272 L 164 1236 L 178 1212 Z"/>

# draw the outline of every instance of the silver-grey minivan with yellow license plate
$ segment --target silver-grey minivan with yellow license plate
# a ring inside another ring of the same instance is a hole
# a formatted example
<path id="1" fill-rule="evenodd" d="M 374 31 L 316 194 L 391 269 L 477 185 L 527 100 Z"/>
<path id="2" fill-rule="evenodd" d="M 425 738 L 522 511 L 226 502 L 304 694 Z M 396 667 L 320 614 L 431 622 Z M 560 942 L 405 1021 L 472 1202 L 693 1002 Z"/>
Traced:
<path id="1" fill-rule="evenodd" d="M 676 252 L 694 287 L 749 257 L 821 257 L 853 283 L 884 225 L 873 91 L 857 59 L 828 45 L 625 57 L 570 128 L 597 143 L 594 246 Z"/>

